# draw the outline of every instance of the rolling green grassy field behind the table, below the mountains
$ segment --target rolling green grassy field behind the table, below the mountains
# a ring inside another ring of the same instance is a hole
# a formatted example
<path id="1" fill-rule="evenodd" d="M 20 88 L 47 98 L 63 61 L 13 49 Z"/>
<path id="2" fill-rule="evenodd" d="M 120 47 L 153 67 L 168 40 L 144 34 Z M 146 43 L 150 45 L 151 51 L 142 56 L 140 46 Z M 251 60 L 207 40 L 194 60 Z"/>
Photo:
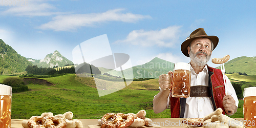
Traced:
<path id="1" fill-rule="evenodd" d="M 0 82 L 7 76 L 0 76 Z M 8 76 L 10 77 L 10 76 Z M 11 76 L 16 77 L 16 76 Z M 158 79 L 133 81 L 126 88 L 99 97 L 93 78 L 75 74 L 43 78 L 55 84 L 28 84 L 30 91 L 12 94 L 12 119 L 28 119 L 33 115 L 52 112 L 54 115 L 71 111 L 77 119 L 98 119 L 104 114 L 137 113 L 146 110 L 146 117 L 169 118 L 170 110 L 153 111 L 153 98 L 159 92 Z M 256 86 L 245 83 L 242 88 Z M 243 100 L 232 118 L 243 118 Z"/>

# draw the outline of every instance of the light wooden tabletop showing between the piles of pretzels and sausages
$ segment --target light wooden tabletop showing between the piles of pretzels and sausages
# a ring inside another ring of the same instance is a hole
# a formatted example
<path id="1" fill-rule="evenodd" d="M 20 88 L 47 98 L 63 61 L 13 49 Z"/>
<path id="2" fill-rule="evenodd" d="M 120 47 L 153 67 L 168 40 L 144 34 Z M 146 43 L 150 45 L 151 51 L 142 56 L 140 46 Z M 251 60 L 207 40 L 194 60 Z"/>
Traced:
<path id="1" fill-rule="evenodd" d="M 153 127 L 174 127 L 174 128 L 187 128 L 186 124 L 181 123 L 184 118 L 153 118 L 151 124 L 160 125 Z M 24 119 L 12 119 L 12 128 L 23 128 L 22 121 Z M 79 119 L 84 128 L 99 128 L 98 119 Z M 243 118 L 237 118 L 238 121 L 244 120 Z M 146 127 L 145 127 L 146 128 Z M 198 127 L 201 128 L 201 127 Z"/>

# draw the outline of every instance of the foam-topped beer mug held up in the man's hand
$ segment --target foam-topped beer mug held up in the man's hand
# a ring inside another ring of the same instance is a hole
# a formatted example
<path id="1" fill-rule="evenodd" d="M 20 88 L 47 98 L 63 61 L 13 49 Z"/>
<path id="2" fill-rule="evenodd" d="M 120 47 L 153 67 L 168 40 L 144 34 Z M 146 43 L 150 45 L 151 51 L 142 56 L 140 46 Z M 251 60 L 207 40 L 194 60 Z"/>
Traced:
<path id="1" fill-rule="evenodd" d="M 172 79 L 172 97 L 187 98 L 190 96 L 190 74 L 189 63 L 175 63 Z"/>

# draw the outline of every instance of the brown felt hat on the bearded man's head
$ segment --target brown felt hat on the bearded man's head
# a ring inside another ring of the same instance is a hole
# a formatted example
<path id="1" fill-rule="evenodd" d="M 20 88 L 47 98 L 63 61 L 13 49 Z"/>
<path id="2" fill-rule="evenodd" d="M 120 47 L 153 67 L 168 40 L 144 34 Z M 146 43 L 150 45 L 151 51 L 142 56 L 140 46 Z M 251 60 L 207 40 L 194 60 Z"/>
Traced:
<path id="1" fill-rule="evenodd" d="M 191 41 L 193 41 L 195 38 L 198 38 L 198 37 L 210 39 L 214 43 L 214 49 L 216 48 L 216 46 L 218 45 L 218 42 L 219 42 L 219 38 L 217 36 L 207 35 L 203 28 L 199 28 L 199 29 L 195 30 L 194 32 L 192 32 L 189 35 L 189 37 L 187 37 L 186 40 L 181 44 L 181 51 L 185 56 L 189 57 L 189 55 L 187 53 L 187 47 L 189 46 Z"/>

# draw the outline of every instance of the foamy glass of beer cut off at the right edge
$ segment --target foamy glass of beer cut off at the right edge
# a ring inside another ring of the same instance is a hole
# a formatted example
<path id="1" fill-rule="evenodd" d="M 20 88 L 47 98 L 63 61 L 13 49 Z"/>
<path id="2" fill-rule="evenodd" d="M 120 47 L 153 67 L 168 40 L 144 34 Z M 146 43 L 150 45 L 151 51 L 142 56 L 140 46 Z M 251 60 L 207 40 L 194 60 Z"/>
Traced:
<path id="1" fill-rule="evenodd" d="M 245 127 L 256 127 L 256 87 L 244 89 Z"/>

